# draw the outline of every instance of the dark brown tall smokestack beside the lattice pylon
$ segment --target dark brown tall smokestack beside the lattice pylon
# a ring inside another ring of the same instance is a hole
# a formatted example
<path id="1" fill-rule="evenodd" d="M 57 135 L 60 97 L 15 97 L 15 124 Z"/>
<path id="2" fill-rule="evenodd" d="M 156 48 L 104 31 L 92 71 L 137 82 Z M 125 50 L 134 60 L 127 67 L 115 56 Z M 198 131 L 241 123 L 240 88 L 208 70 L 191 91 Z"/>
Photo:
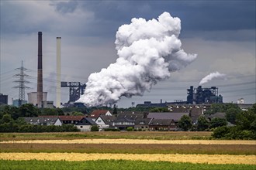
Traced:
<path id="1" fill-rule="evenodd" d="M 37 106 L 42 107 L 43 101 L 43 63 L 42 63 L 42 32 L 38 32 L 38 66 L 37 66 Z"/>

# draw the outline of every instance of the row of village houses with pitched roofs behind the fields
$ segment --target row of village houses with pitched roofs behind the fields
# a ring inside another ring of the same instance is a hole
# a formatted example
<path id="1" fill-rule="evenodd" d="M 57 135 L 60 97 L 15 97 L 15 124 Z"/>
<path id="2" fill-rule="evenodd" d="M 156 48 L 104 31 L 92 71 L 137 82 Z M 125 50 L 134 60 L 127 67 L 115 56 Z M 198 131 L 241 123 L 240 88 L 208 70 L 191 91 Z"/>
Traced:
<path id="1" fill-rule="evenodd" d="M 141 131 L 178 131 L 178 121 L 182 116 L 191 117 L 196 124 L 199 116 L 203 114 L 202 108 L 180 110 L 179 112 L 120 112 L 116 116 L 109 110 L 94 110 L 85 116 L 40 116 L 25 117 L 30 124 L 61 125 L 74 124 L 80 131 L 90 131 L 92 125 L 98 125 L 100 131 L 106 128 L 116 128 L 125 131 L 132 127 Z"/>

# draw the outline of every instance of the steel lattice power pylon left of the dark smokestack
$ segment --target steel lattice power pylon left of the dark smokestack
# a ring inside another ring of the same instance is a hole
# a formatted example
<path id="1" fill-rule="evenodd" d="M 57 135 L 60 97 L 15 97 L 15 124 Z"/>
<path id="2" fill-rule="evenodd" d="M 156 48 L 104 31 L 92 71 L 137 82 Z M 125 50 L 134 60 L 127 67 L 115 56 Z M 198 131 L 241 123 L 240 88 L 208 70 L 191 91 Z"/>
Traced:
<path id="1" fill-rule="evenodd" d="M 25 67 L 23 67 L 23 61 L 22 66 L 19 68 L 16 68 L 16 70 L 19 70 L 19 73 L 14 75 L 15 77 L 18 77 L 19 80 L 13 81 L 14 83 L 18 83 L 19 85 L 13 88 L 19 88 L 19 106 L 22 104 L 22 100 L 25 100 L 25 89 L 29 89 L 30 87 L 27 87 L 25 84 L 30 83 L 29 81 L 25 80 L 26 77 L 29 77 L 26 73 L 24 73 L 26 70 Z"/>

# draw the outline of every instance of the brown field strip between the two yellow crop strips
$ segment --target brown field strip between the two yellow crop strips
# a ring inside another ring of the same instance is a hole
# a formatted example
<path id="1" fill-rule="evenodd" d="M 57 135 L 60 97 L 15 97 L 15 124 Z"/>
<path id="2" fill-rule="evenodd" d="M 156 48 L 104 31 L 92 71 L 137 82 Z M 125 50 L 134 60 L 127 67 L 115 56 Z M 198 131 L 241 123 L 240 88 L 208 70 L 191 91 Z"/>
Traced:
<path id="1" fill-rule="evenodd" d="M 256 155 L 255 145 L 0 144 L 0 152 Z"/>

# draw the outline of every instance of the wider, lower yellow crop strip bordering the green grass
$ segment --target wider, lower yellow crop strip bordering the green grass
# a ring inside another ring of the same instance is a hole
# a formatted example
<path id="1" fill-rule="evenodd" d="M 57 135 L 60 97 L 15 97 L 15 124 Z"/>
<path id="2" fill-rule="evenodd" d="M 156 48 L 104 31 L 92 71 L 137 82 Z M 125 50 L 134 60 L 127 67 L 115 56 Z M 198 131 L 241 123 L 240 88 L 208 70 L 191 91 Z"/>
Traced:
<path id="1" fill-rule="evenodd" d="M 48 160 L 48 161 L 90 161 L 90 160 L 132 160 L 147 162 L 191 162 L 209 164 L 256 165 L 256 155 L 181 155 L 181 154 L 85 154 L 85 153 L 0 153 L 4 160 Z"/>

